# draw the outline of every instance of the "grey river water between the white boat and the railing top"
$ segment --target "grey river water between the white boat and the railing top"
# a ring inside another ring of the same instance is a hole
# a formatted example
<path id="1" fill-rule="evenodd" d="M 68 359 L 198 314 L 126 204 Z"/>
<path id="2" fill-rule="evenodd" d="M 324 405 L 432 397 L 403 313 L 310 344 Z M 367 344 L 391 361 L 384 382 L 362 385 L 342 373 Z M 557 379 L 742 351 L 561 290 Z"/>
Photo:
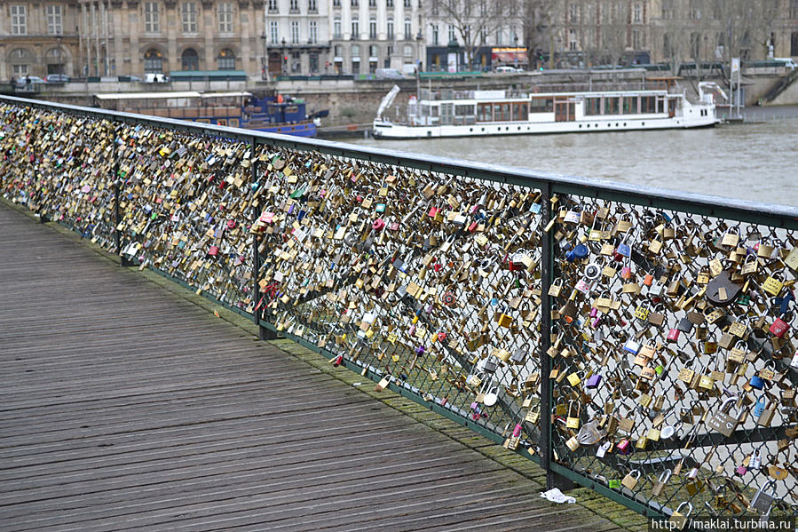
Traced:
<path id="1" fill-rule="evenodd" d="M 719 110 L 719 115 L 723 111 Z M 743 109 L 747 123 L 699 130 L 619 131 L 353 144 L 534 171 L 798 205 L 798 107 Z"/>

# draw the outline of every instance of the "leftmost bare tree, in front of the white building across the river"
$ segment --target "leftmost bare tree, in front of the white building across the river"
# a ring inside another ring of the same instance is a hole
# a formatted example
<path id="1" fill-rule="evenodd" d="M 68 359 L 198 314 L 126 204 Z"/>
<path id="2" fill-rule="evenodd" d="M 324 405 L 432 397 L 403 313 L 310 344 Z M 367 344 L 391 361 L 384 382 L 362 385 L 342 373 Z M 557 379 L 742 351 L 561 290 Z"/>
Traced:
<path id="1" fill-rule="evenodd" d="M 466 55 L 466 62 L 474 68 L 474 58 L 480 47 L 488 44 L 489 36 L 506 25 L 507 13 L 513 0 L 431 0 L 430 20 L 444 20 L 454 27 L 458 41 Z"/>

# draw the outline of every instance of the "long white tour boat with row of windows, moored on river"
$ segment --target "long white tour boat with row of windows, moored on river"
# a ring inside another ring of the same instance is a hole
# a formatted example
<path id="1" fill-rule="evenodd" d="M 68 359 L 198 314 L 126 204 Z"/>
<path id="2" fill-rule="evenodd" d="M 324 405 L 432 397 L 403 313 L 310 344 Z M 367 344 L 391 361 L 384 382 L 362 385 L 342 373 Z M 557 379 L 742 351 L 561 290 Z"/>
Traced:
<path id="1" fill-rule="evenodd" d="M 715 83 L 699 83 L 699 98 L 667 89 L 645 91 L 429 91 L 411 97 L 407 122 L 383 118 L 399 87 L 383 98 L 374 121 L 376 139 L 427 139 L 534 133 L 660 130 L 718 123 Z"/>

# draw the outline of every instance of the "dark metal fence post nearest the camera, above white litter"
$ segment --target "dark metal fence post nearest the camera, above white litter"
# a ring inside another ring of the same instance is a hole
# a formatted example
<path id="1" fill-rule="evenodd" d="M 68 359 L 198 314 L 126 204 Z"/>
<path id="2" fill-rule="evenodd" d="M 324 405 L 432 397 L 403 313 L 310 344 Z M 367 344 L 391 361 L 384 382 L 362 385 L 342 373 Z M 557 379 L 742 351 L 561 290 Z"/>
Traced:
<path id="1" fill-rule="evenodd" d="M 551 183 L 546 183 L 542 189 L 541 226 L 544 233 L 541 235 L 541 467 L 546 471 L 546 488 L 572 489 L 575 484 L 562 475 L 551 470 L 551 460 L 554 457 L 554 446 L 551 441 L 554 425 L 552 423 L 552 404 L 554 386 L 551 383 L 551 297 L 549 288 L 554 280 L 554 230 L 552 220 L 557 219 L 553 212 L 551 198 L 553 195 Z"/>

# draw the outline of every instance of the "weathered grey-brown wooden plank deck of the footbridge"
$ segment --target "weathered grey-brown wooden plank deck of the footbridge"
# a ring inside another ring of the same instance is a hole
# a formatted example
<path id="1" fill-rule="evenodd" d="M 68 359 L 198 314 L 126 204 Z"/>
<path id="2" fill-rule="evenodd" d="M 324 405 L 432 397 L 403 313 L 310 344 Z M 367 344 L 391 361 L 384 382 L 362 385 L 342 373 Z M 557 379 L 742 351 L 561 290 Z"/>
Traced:
<path id="1" fill-rule="evenodd" d="M 617 505 L 617 522 L 599 516 L 610 503 L 587 490 L 575 495 L 592 509 L 549 504 L 486 457 L 498 446 L 419 423 L 74 241 L 0 203 L 0 530 L 601 532 L 628 519 Z"/>

